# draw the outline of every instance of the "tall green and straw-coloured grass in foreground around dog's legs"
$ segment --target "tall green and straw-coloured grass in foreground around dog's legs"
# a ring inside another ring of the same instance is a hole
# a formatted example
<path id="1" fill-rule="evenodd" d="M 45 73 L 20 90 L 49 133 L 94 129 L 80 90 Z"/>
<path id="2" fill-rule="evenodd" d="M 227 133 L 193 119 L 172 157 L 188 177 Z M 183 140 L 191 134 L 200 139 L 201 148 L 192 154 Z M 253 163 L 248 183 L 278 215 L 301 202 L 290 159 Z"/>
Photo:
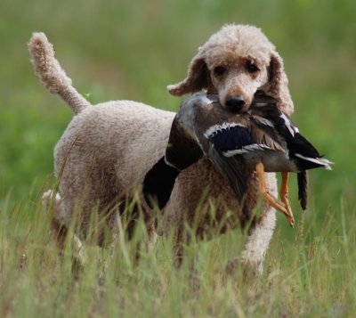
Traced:
<path id="1" fill-rule="evenodd" d="M 26 219 L 19 214 L 28 211 Z M 62 256 L 49 240 L 51 210 L 39 201 L 1 211 L 1 316 L 352 316 L 356 310 L 355 216 L 340 202 L 337 214 L 303 216 L 295 241 L 276 232 L 261 279 L 227 275 L 240 232 L 193 241 L 180 271 L 174 269 L 173 238 L 158 238 L 135 261 L 135 242 L 118 239 L 107 249 L 85 242 L 83 267 L 73 273 L 77 251 Z M 293 231 L 293 230 L 291 230 Z M 138 225 L 136 238 L 145 236 Z M 192 270 L 191 263 L 194 264 Z"/>

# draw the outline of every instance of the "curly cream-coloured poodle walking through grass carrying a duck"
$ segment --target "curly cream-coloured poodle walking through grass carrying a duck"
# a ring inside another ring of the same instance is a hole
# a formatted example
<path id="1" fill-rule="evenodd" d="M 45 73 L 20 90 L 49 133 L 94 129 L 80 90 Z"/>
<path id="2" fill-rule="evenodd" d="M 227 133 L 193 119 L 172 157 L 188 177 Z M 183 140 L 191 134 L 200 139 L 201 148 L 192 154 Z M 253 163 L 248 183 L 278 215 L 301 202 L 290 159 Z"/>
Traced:
<path id="1" fill-rule="evenodd" d="M 117 216 L 125 213 L 127 201 L 134 201 L 135 216 L 142 215 L 152 233 L 154 213 L 143 200 L 142 181 L 165 153 L 174 112 L 131 101 L 93 106 L 72 86 L 43 33 L 34 33 L 28 47 L 44 86 L 59 94 L 76 115 L 54 149 L 54 171 L 61 192 L 61 200 L 57 197 L 55 204 L 54 221 L 66 228 L 74 211 L 79 209 L 78 234 L 85 237 L 91 215 L 98 213 L 115 237 L 121 220 Z M 226 108 L 241 110 L 248 108 L 255 91 L 261 87 L 279 98 L 281 110 L 288 114 L 293 111 L 283 61 L 274 45 L 260 29 L 227 25 L 198 49 L 187 78 L 167 88 L 173 95 L 206 89 L 218 94 Z M 268 191 L 276 195 L 275 174 L 266 173 L 266 183 Z M 254 174 L 247 180 L 247 207 L 253 210 L 257 200 Z M 214 216 L 210 213 L 213 210 Z M 194 224 L 197 237 L 206 236 L 214 228 L 225 232 L 241 226 L 234 192 L 206 158 L 182 171 L 162 213 L 164 231 L 169 228 L 176 231 L 177 265 L 182 261 L 183 243 L 190 241 L 189 233 L 184 231 L 186 222 Z M 262 273 L 264 254 L 275 226 L 274 209 L 263 205 L 255 220 L 249 224 L 238 261 L 258 274 Z M 127 224 L 127 232 L 130 238 L 134 220 Z M 100 237 L 98 243 L 104 241 Z"/>

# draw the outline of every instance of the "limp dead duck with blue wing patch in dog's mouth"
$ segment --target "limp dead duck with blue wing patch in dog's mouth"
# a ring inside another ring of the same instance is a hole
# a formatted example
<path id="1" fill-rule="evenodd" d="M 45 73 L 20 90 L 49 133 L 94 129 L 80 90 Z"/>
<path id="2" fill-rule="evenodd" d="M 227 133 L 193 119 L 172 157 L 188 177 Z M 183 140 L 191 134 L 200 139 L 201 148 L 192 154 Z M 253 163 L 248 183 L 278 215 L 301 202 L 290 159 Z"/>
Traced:
<path id="1" fill-rule="evenodd" d="M 287 216 L 295 218 L 288 200 L 289 173 L 297 174 L 298 200 L 307 208 L 307 170 L 333 162 L 323 158 L 286 113 L 279 100 L 257 90 L 247 111 L 227 110 L 218 95 L 199 92 L 184 100 L 171 127 L 165 156 L 145 175 L 142 192 L 152 208 L 166 206 L 175 178 L 198 159 L 206 156 L 223 175 L 237 196 L 245 216 L 250 211 L 244 201 L 247 180 L 254 172 L 263 200 Z M 264 181 L 264 172 L 280 172 L 280 200 L 273 197 Z"/>

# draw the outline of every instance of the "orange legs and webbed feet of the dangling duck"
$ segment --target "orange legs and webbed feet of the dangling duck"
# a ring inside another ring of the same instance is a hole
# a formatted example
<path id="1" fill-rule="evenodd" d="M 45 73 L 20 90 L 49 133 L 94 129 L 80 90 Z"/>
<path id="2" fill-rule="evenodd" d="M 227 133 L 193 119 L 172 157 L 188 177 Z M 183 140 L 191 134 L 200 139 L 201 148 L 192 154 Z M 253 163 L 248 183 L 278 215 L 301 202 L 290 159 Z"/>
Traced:
<path id="1" fill-rule="evenodd" d="M 271 207 L 276 208 L 279 212 L 282 212 L 285 216 L 287 216 L 288 223 L 293 227 L 295 225 L 295 218 L 293 216 L 292 210 L 289 205 L 289 201 L 287 199 L 288 195 L 288 178 L 283 176 L 282 174 L 282 185 L 280 188 L 281 193 L 281 201 L 274 198 L 269 192 L 267 192 L 266 183 L 264 179 L 264 167 L 263 163 L 259 162 L 256 165 L 256 172 L 259 181 L 259 190 L 263 194 L 263 200 L 265 200 Z M 282 192 L 283 190 L 283 192 Z M 282 195 L 283 193 L 283 195 Z"/>

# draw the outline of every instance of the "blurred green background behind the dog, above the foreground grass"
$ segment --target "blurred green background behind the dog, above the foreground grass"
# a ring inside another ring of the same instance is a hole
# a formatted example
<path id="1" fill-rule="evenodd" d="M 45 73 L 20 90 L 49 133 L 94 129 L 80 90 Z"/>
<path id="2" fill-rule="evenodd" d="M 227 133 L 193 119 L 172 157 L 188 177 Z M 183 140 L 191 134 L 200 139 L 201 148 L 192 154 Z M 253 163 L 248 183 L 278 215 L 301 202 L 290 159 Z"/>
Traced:
<path id="1" fill-rule="evenodd" d="M 34 75 L 27 42 L 44 31 L 79 92 L 176 110 L 166 85 L 224 23 L 254 24 L 284 58 L 293 119 L 334 170 L 312 171 L 310 207 L 355 208 L 355 1 L 62 0 L 0 2 L 0 204 L 36 197 L 73 117 Z M 295 183 L 295 176 L 292 183 Z M 295 211 L 300 211 L 292 188 Z M 296 218 L 299 213 L 295 212 Z M 281 224 L 279 222 L 279 224 Z M 287 226 L 284 222 L 279 226 Z"/>

